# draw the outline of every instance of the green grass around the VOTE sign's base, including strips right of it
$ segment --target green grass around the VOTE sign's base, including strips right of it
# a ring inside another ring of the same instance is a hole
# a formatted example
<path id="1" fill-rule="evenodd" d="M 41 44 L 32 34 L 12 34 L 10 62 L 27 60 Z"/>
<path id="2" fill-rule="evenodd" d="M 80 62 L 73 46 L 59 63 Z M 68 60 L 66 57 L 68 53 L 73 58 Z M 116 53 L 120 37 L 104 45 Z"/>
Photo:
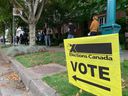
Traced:
<path id="1" fill-rule="evenodd" d="M 125 61 L 122 66 L 122 78 L 128 81 L 128 61 Z M 68 83 L 67 73 L 60 73 L 53 76 L 48 76 L 42 79 L 53 87 L 61 96 L 75 96 L 79 89 Z M 128 83 L 128 82 L 127 82 Z M 127 84 L 128 85 L 128 84 Z M 80 96 L 94 96 L 90 93 L 83 92 Z M 128 86 L 123 89 L 123 96 L 128 96 Z"/>

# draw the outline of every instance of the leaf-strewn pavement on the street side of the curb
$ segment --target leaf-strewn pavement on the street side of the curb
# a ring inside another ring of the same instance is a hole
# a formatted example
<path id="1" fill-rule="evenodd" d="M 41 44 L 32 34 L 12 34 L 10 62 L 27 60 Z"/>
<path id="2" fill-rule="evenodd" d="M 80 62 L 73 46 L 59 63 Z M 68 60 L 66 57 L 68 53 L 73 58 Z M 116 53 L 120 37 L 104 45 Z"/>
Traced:
<path id="1" fill-rule="evenodd" d="M 32 96 L 20 82 L 12 67 L 8 59 L 0 52 L 0 96 Z"/>

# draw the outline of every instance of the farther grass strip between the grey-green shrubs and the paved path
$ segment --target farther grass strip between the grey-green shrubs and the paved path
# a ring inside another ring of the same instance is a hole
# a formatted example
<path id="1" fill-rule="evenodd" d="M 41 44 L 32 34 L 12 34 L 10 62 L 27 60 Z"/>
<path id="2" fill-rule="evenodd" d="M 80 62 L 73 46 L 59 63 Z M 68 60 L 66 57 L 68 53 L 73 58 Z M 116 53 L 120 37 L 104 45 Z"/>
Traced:
<path id="1" fill-rule="evenodd" d="M 27 68 L 49 63 L 57 63 L 64 66 L 66 64 L 64 52 L 38 52 L 16 56 L 16 60 Z"/>

